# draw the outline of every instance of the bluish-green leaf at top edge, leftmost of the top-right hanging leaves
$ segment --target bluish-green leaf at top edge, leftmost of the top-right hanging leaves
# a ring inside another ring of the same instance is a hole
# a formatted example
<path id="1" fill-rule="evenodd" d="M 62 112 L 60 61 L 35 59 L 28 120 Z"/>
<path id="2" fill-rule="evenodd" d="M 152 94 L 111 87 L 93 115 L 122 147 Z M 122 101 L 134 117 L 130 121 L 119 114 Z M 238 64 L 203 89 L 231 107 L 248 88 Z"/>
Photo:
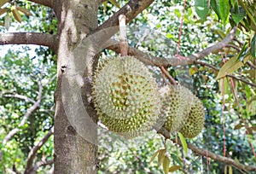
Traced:
<path id="1" fill-rule="evenodd" d="M 201 20 L 206 20 L 209 12 L 208 0 L 196 0 L 195 12 L 201 18 Z"/>

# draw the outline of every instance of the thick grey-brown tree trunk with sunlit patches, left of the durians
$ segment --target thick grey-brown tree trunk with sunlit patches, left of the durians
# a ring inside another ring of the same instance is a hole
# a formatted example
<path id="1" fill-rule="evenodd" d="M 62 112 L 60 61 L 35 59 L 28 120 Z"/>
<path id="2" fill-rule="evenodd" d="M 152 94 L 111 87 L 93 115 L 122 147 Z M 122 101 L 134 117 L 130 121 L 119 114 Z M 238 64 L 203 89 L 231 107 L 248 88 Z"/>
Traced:
<path id="1" fill-rule="evenodd" d="M 91 78 L 94 54 L 85 50 L 87 54 L 81 56 L 78 48 L 97 26 L 97 9 L 97 1 L 55 0 L 59 20 L 55 174 L 96 173 L 96 113 L 90 101 L 90 85 L 84 80 Z"/>

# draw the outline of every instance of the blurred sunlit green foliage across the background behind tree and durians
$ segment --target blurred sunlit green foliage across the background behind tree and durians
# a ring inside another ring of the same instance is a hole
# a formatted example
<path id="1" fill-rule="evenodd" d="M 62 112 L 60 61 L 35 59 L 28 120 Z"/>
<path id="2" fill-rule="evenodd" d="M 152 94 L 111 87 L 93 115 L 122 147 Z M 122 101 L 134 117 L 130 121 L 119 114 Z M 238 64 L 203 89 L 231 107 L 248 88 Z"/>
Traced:
<path id="1" fill-rule="evenodd" d="M 57 32 L 57 20 L 51 9 L 26 1 L 15 2 L 20 7 L 30 9 L 33 15 L 22 15 L 20 24 L 11 18 L 9 31 L 51 34 Z M 122 7 L 128 1 L 111 2 L 106 1 L 100 6 L 99 24 L 108 20 L 109 16 L 119 10 L 119 6 Z M 195 10 L 195 1 L 187 1 L 180 55 L 191 55 L 215 44 L 229 33 L 232 25 L 234 26 L 232 22 L 224 26 L 222 18 L 212 9 L 208 9 L 207 14 L 203 15 L 204 20 Z M 130 46 L 149 55 L 172 59 L 177 54 L 182 16 L 183 1 L 155 1 L 127 26 Z M 5 16 L 0 17 L 4 23 Z M 244 25 L 250 26 L 245 23 Z M 0 32 L 7 31 L 0 27 Z M 241 30 L 236 36 L 240 42 L 233 44 L 238 49 L 241 49 L 248 39 L 252 39 L 251 30 L 247 29 Z M 0 141 L 3 142 L 10 131 L 19 128 L 8 142 L 0 143 L 0 173 L 9 173 L 9 169 L 14 167 L 18 171 L 24 171 L 31 148 L 53 126 L 56 56 L 51 50 L 38 46 L 1 46 L 2 52 L 4 54 L 0 56 Z M 230 46 L 214 55 L 204 57 L 201 61 L 219 69 L 224 64 L 224 58 L 228 61 L 237 55 L 237 52 L 237 49 Z M 102 58 L 111 55 L 114 55 L 113 51 L 104 50 Z M 250 61 L 254 62 L 255 66 L 255 58 L 251 58 Z M 162 85 L 160 70 L 156 67 L 151 67 L 151 70 Z M 170 67 L 168 71 L 180 84 L 188 86 L 201 99 L 206 110 L 205 129 L 199 136 L 187 141 L 221 155 L 224 152 L 225 141 L 227 157 L 236 159 L 241 164 L 255 165 L 256 159 L 249 143 L 250 139 L 255 148 L 255 87 L 235 79 L 232 86 L 230 78 L 216 80 L 218 71 L 202 65 Z M 247 64 L 233 74 L 255 83 L 255 68 Z M 32 107 L 32 101 L 38 101 L 39 85 L 43 86 L 39 106 L 30 113 L 26 123 L 20 125 Z M 24 97 L 14 97 L 15 95 Z M 155 151 L 165 148 L 163 137 L 154 131 L 136 139 L 125 140 L 100 128 L 98 141 L 98 158 L 101 161 L 98 173 L 163 173 L 156 159 L 149 163 Z M 51 136 L 38 151 L 35 162 L 52 159 L 53 145 Z M 167 141 L 166 148 L 171 154 L 171 165 L 183 166 L 182 170 L 175 171 L 177 173 L 224 173 L 228 168 L 223 163 L 198 156 L 192 151 L 189 151 L 188 156 L 184 156 L 182 148 L 172 142 Z M 52 165 L 41 166 L 38 173 L 46 173 L 51 167 Z M 232 171 L 241 173 L 235 168 L 232 168 Z"/>

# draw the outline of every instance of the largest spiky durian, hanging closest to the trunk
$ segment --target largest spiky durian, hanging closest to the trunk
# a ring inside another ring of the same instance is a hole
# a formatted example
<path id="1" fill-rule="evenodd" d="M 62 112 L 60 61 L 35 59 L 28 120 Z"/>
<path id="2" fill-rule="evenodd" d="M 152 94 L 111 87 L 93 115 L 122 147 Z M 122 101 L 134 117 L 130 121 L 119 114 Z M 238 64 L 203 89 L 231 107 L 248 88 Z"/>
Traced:
<path id="1" fill-rule="evenodd" d="M 133 137 L 148 131 L 158 119 L 158 85 L 148 68 L 132 56 L 103 61 L 92 90 L 97 115 L 110 131 Z"/>

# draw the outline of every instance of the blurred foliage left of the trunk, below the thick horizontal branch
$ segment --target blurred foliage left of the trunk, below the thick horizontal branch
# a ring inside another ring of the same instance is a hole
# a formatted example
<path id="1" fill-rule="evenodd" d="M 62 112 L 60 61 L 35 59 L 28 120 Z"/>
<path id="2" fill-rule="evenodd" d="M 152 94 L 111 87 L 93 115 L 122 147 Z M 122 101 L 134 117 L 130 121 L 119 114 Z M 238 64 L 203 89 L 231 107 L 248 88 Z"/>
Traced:
<path id="1" fill-rule="evenodd" d="M 41 140 L 53 125 L 53 94 L 55 90 L 55 64 L 53 61 L 43 63 L 44 56 L 29 55 L 27 47 L 17 49 L 1 57 L 0 62 L 0 123 L 1 142 L 10 131 L 19 128 L 13 138 L 6 144 L 2 144 L 0 152 L 3 159 L 0 171 L 6 171 L 13 165 L 22 171 L 26 166 L 26 157 L 31 148 Z M 38 101 L 38 83 L 44 86 L 40 106 L 32 111 L 25 124 L 24 115 L 32 107 L 32 101 Z M 52 140 L 51 140 L 52 141 Z M 37 160 L 44 156 L 52 156 L 53 144 L 46 143 L 38 151 Z"/>

